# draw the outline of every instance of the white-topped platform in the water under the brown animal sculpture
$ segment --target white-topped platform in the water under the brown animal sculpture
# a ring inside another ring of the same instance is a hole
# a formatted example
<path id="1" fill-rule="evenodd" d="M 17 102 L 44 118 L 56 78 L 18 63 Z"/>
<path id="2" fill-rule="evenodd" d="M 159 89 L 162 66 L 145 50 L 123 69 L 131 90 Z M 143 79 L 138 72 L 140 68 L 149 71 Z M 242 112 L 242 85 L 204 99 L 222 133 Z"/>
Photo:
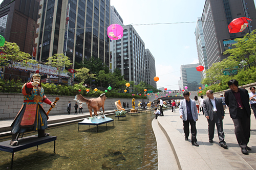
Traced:
<path id="1" fill-rule="evenodd" d="M 106 117 L 105 115 L 104 116 L 102 115 L 102 116 L 87 117 L 82 122 L 78 123 L 78 131 L 79 131 L 80 125 L 89 125 L 89 129 L 90 129 L 90 125 L 94 125 L 94 126 L 97 126 L 97 132 L 98 132 L 99 125 L 106 124 L 106 128 L 107 128 L 107 124 L 110 122 L 113 122 L 113 126 L 114 126 L 114 119 Z"/>

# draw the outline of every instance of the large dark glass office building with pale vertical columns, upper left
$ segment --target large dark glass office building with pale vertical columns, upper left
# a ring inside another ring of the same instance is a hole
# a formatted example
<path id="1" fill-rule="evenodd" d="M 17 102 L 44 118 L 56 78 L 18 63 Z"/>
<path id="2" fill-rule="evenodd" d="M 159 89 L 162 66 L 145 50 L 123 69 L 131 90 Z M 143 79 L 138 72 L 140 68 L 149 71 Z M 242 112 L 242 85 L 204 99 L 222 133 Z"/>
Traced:
<path id="1" fill-rule="evenodd" d="M 37 60 L 65 53 L 73 63 L 91 57 L 109 65 L 110 0 L 41 0 Z"/>

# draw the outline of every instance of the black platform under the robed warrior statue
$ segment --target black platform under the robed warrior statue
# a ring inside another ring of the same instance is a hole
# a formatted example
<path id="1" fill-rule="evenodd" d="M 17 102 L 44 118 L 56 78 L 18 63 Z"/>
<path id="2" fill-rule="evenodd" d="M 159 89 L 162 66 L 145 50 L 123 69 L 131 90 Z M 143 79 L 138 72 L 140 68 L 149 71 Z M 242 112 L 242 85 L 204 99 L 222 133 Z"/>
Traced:
<path id="1" fill-rule="evenodd" d="M 55 153 L 56 139 L 57 139 L 56 136 L 38 137 L 37 135 L 32 135 L 24 138 L 19 138 L 18 139 L 19 145 L 17 146 L 11 146 L 10 145 L 11 140 L 0 142 L 0 150 L 12 153 L 12 160 L 11 160 L 11 168 L 12 168 L 14 152 L 22 151 L 35 146 L 36 146 L 36 149 L 38 149 L 38 145 L 54 141 L 53 152 Z"/>

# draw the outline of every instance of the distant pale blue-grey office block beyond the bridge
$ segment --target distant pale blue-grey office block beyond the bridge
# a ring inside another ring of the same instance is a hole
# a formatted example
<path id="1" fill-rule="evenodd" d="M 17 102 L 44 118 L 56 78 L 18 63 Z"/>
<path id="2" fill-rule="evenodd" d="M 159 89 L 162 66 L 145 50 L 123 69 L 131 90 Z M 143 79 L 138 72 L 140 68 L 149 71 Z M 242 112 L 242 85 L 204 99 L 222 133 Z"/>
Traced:
<path id="1" fill-rule="evenodd" d="M 181 72 L 181 90 L 188 90 L 188 91 L 198 91 L 198 87 L 201 86 L 201 75 L 200 71 L 197 71 L 196 67 L 199 64 L 187 64 L 181 65 L 180 72 Z M 185 89 L 185 86 L 188 88 Z"/>

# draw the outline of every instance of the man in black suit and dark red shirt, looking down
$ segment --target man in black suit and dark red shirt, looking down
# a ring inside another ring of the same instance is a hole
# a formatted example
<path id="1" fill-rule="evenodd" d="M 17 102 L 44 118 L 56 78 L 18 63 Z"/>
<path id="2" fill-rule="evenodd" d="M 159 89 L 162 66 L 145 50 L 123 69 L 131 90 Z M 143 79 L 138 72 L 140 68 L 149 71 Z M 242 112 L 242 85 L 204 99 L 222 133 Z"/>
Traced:
<path id="1" fill-rule="evenodd" d="M 250 116 L 249 94 L 246 89 L 238 88 L 237 80 L 229 80 L 227 83 L 230 90 L 225 92 L 225 103 L 229 107 L 230 117 L 234 123 L 234 133 L 242 153 L 248 155 L 251 150 L 247 144 L 250 138 Z"/>

